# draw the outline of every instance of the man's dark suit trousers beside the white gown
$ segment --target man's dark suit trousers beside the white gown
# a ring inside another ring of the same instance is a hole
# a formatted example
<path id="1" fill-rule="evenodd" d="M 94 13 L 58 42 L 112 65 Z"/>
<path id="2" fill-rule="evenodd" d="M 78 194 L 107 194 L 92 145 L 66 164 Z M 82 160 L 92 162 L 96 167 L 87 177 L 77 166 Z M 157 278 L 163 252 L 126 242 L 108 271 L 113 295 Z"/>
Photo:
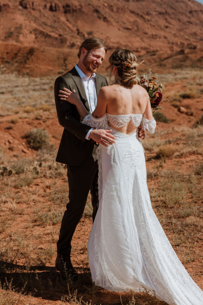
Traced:
<path id="1" fill-rule="evenodd" d="M 61 255 L 71 253 L 72 236 L 84 212 L 89 190 L 92 195 L 93 221 L 99 205 L 98 163 L 91 154 L 79 166 L 67 164 L 67 176 L 69 202 L 62 218 L 57 242 L 57 253 Z"/>

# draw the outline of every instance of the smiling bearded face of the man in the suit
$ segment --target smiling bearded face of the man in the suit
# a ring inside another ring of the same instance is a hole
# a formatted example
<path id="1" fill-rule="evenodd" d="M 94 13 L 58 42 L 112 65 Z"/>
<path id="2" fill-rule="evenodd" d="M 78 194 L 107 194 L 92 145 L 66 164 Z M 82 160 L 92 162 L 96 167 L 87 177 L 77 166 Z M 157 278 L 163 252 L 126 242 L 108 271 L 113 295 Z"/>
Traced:
<path id="1" fill-rule="evenodd" d="M 87 51 L 86 55 L 82 59 L 83 65 L 86 67 L 87 71 L 95 73 L 97 68 L 102 64 L 105 56 L 105 49 L 95 48 Z"/>

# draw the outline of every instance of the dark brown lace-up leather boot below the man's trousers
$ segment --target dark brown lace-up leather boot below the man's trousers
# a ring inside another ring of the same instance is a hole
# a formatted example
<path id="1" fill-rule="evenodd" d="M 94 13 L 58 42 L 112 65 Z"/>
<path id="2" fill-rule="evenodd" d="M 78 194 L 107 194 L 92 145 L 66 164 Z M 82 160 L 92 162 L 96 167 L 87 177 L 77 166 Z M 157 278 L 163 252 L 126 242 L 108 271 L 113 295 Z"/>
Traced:
<path id="1" fill-rule="evenodd" d="M 73 268 L 70 256 L 57 254 L 55 266 L 56 266 L 56 270 L 60 272 L 61 277 L 63 279 L 69 277 L 71 277 L 72 280 L 74 281 L 78 279 L 78 273 L 75 270 L 75 268 Z"/>

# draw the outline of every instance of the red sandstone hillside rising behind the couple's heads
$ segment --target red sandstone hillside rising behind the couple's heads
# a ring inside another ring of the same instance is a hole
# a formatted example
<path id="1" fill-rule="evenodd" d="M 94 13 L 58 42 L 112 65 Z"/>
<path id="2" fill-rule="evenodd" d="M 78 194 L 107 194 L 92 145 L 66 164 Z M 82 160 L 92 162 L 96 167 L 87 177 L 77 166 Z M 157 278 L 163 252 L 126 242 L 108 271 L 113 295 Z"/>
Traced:
<path id="1" fill-rule="evenodd" d="M 33 76 L 66 71 L 91 36 L 104 39 L 107 58 L 121 47 L 156 70 L 200 67 L 202 13 L 194 0 L 0 0 L 1 70 Z"/>

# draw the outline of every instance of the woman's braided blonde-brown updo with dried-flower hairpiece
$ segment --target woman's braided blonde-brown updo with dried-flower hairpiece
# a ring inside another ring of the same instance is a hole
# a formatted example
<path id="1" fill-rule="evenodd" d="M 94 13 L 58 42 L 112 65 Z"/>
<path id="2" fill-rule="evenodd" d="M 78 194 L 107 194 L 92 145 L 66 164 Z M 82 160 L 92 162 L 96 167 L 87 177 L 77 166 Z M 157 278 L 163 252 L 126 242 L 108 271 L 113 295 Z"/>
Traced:
<path id="1" fill-rule="evenodd" d="M 139 62 L 135 54 L 126 49 L 117 49 L 109 57 L 109 66 L 106 70 L 113 67 L 117 68 L 119 79 L 118 84 L 126 87 L 132 87 L 137 84 L 136 80 L 137 67 Z"/>

